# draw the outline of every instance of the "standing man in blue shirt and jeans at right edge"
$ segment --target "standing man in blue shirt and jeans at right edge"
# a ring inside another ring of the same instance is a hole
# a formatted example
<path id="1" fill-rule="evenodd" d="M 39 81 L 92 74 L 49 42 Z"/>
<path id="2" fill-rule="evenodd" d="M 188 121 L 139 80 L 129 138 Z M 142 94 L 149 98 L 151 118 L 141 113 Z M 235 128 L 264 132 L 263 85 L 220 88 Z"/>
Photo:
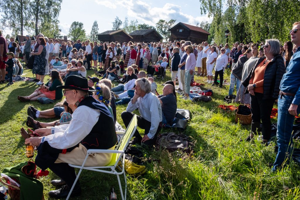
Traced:
<path id="1" fill-rule="evenodd" d="M 297 47 L 292 56 L 287 72 L 280 83 L 278 97 L 277 145 L 278 153 L 272 172 L 280 170 L 289 163 L 292 152 L 292 128 L 295 116 L 300 112 L 300 22 L 295 22 L 289 33 L 291 41 Z"/>

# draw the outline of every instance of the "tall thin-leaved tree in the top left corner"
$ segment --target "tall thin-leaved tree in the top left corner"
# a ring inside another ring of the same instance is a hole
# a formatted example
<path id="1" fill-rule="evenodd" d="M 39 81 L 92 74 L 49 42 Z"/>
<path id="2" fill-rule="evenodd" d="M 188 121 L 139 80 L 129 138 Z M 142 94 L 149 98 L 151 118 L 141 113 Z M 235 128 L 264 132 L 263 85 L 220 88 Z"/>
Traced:
<path id="1" fill-rule="evenodd" d="M 12 30 L 12 35 L 23 35 L 29 18 L 29 2 L 29 0 L 1 0 L 1 27 Z"/>

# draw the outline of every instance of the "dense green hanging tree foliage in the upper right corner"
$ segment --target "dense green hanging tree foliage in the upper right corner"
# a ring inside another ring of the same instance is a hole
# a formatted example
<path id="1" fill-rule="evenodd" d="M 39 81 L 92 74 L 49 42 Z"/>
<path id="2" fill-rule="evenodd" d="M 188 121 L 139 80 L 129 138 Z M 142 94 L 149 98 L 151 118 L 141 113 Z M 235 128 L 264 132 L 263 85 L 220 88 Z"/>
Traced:
<path id="1" fill-rule="evenodd" d="M 222 31 L 226 29 L 230 31 L 228 42 L 260 43 L 276 38 L 283 43 L 290 40 L 289 30 L 294 22 L 299 21 L 300 1 L 200 0 L 200 4 L 201 14 L 213 16 L 209 32 L 211 40 L 216 43 L 225 41 Z"/>

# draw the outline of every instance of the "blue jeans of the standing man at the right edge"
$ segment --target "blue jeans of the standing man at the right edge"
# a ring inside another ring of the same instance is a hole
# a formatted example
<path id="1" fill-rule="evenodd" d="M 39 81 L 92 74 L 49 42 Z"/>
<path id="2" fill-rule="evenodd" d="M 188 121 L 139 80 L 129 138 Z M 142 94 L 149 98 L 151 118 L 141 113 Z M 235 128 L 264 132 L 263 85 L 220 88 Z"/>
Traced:
<path id="1" fill-rule="evenodd" d="M 289 164 L 289 158 L 292 152 L 292 130 L 295 116 L 289 114 L 289 106 L 291 105 L 294 97 L 282 95 L 278 97 L 278 118 L 277 118 L 277 145 L 278 153 L 273 164 L 272 171 L 276 171 L 282 165 Z M 297 114 L 300 112 L 298 106 Z"/>

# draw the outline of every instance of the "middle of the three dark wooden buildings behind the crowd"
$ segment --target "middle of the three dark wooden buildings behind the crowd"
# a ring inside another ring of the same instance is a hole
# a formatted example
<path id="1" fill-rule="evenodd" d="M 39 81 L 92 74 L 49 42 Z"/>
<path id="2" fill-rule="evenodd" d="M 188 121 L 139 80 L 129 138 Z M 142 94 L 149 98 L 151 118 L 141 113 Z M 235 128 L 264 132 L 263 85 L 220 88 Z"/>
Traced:
<path id="1" fill-rule="evenodd" d="M 130 34 L 132 42 L 159 42 L 163 39 L 155 29 L 136 30 Z"/>

